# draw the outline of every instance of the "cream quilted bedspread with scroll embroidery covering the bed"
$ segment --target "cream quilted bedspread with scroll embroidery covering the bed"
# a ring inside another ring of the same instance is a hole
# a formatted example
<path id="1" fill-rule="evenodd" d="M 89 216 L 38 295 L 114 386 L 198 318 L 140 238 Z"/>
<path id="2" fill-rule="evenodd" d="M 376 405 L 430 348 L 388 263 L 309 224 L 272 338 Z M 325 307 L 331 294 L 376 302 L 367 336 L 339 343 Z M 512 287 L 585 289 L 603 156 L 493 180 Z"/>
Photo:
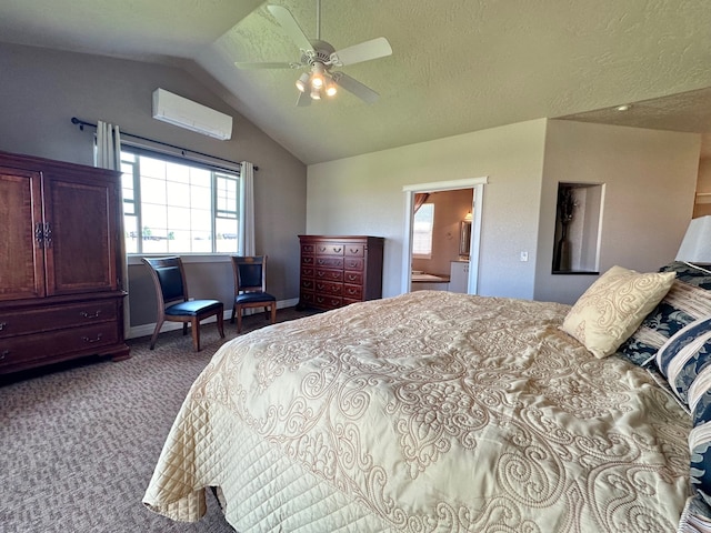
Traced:
<path id="1" fill-rule="evenodd" d="M 418 291 L 226 344 L 144 496 L 263 532 L 663 532 L 688 492 L 685 414 L 593 358 L 562 304 Z"/>

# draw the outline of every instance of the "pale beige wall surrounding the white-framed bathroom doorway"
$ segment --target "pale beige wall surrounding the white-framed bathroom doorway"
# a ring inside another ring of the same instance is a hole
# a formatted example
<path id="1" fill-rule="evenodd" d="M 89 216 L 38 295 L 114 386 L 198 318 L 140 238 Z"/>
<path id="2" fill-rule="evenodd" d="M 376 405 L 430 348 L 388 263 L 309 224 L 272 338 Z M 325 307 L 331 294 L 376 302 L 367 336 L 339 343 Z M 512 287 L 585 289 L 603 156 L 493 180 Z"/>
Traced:
<path id="1" fill-rule="evenodd" d="M 403 185 L 489 177 L 479 293 L 533 296 L 545 120 L 310 165 L 307 231 L 385 238 L 383 295 L 402 286 Z M 404 258 L 407 261 L 407 258 Z"/>

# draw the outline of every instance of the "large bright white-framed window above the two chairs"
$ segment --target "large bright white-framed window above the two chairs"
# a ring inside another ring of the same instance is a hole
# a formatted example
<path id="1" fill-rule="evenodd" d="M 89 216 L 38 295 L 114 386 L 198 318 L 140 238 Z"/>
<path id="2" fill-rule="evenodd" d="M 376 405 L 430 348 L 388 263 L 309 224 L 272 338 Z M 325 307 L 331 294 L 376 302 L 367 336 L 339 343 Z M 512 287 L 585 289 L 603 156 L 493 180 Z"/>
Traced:
<path id="1" fill-rule="evenodd" d="M 237 253 L 239 174 L 121 148 L 128 253 Z"/>

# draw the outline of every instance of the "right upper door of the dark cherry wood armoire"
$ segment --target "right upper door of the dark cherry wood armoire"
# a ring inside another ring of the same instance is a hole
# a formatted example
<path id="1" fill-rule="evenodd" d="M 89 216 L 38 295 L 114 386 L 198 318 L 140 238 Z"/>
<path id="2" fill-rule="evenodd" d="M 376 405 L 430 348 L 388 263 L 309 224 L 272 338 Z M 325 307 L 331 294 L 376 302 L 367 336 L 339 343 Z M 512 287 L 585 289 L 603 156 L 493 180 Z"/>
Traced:
<path id="1" fill-rule="evenodd" d="M 97 171 L 98 173 L 100 171 Z M 114 183 L 44 179 L 47 294 L 117 290 Z"/>

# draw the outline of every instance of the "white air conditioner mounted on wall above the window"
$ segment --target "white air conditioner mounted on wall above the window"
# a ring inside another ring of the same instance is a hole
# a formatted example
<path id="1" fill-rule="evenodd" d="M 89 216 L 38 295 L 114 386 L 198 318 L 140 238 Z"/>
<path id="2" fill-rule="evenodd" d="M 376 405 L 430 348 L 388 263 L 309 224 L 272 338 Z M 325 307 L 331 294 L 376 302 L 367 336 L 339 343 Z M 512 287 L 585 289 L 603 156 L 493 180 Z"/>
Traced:
<path id="1" fill-rule="evenodd" d="M 153 91 L 153 118 L 222 141 L 232 137 L 232 117 L 166 89 Z"/>

